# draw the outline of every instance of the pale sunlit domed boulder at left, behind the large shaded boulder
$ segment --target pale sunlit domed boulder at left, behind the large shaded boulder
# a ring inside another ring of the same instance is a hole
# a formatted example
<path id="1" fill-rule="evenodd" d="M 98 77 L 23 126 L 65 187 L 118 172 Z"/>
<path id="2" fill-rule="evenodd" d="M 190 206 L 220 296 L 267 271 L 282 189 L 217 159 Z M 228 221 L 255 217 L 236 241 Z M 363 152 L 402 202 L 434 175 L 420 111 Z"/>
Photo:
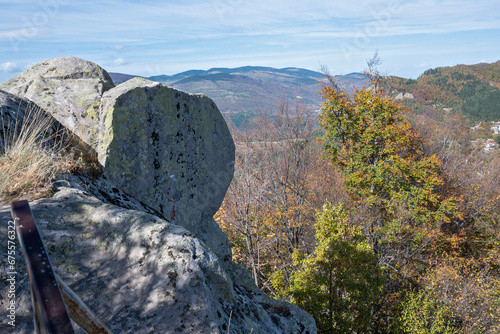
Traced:
<path id="1" fill-rule="evenodd" d="M 102 94 L 114 87 L 99 65 L 75 58 L 43 61 L 0 84 L 0 89 L 27 98 L 93 146 Z"/>

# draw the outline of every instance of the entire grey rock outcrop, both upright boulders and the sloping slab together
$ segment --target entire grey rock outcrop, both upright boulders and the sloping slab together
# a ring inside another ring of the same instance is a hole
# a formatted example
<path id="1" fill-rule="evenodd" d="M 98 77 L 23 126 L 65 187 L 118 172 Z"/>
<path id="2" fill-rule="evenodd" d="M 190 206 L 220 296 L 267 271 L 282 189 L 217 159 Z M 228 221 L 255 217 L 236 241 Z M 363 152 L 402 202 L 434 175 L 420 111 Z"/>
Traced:
<path id="1" fill-rule="evenodd" d="M 31 207 L 56 272 L 113 332 L 316 332 L 310 315 L 265 295 L 230 259 L 213 215 L 232 178 L 234 143 L 209 98 L 144 79 L 114 87 L 99 66 L 71 57 L 0 87 L 42 106 L 98 154 L 101 178 L 65 175 Z M 28 105 L 0 92 L 2 118 L 15 113 L 11 102 Z M 2 245 L 8 220 L 0 208 Z M 30 333 L 17 250 L 14 332 Z M 7 257 L 1 261 L 3 301 Z"/>

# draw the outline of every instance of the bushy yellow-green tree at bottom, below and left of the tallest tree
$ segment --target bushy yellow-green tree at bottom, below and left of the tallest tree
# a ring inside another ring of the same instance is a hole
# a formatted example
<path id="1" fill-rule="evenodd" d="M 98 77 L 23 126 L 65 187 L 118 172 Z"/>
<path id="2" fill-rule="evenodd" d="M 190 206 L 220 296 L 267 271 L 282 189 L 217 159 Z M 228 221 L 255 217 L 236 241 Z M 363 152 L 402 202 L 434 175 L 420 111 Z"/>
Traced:
<path id="1" fill-rule="evenodd" d="M 369 333 L 383 276 L 361 226 L 343 205 L 318 214 L 314 254 L 295 253 L 299 268 L 285 289 L 316 320 L 319 333 Z M 284 287 L 284 285 L 283 285 Z"/>

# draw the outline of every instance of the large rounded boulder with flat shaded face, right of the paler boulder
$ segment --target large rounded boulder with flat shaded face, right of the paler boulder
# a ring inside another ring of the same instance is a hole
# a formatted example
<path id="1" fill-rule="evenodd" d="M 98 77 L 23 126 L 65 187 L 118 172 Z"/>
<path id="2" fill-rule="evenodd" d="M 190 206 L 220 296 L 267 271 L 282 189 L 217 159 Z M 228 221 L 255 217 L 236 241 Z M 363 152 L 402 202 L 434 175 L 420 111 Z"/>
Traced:
<path id="1" fill-rule="evenodd" d="M 213 220 L 234 172 L 234 142 L 217 106 L 142 78 L 104 93 L 99 162 L 118 188 L 230 259 Z"/>

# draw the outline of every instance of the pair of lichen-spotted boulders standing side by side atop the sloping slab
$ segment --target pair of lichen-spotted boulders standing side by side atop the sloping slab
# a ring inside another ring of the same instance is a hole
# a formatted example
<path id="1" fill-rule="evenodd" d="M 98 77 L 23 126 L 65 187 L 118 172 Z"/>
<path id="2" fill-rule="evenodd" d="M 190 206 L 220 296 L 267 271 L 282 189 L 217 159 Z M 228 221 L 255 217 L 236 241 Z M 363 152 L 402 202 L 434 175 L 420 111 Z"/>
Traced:
<path id="1" fill-rule="evenodd" d="M 234 143 L 217 106 L 141 78 L 113 87 L 100 66 L 74 57 L 44 61 L 0 84 L 98 152 L 117 188 L 229 259 L 229 242 L 212 217 L 233 176 Z"/>

